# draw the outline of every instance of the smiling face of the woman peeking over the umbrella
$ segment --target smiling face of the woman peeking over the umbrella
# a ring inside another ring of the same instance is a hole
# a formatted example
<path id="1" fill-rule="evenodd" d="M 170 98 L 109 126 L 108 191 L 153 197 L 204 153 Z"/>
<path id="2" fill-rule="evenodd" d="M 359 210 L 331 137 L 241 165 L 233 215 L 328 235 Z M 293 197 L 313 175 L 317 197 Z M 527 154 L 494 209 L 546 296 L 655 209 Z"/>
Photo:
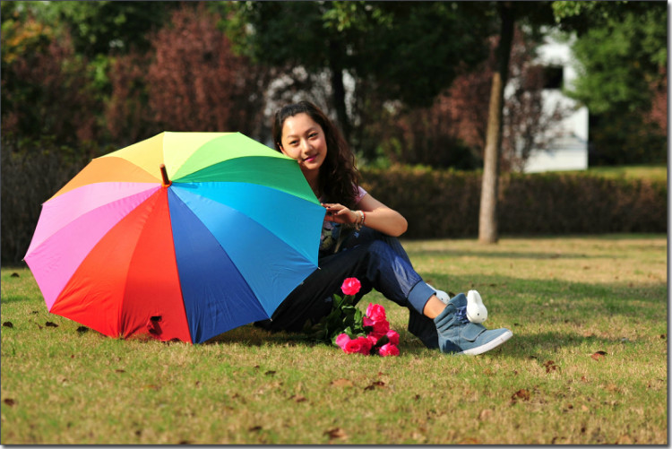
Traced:
<path id="1" fill-rule="evenodd" d="M 286 118 L 282 124 L 280 151 L 298 161 L 306 178 L 317 176 L 327 157 L 327 141 L 322 126 L 303 112 Z"/>

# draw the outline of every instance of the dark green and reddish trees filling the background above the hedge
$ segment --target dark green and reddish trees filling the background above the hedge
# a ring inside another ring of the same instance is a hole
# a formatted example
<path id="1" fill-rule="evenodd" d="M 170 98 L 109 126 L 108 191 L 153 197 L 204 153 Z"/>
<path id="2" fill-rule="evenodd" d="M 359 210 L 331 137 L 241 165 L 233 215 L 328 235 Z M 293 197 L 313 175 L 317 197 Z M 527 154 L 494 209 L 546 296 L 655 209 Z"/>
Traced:
<path id="1" fill-rule="evenodd" d="M 91 158 L 166 129 L 237 130 L 268 142 L 271 113 L 287 101 L 314 99 L 325 108 L 362 167 L 472 171 L 482 165 L 496 2 L 17 1 L 0 7 L 4 262 L 19 260 L 27 247 L 18 236 L 35 229 L 39 203 Z M 546 79 L 535 63 L 542 39 L 558 30 L 575 37 L 581 77 L 567 93 L 592 111 L 590 165 L 666 162 L 666 5 L 535 2 L 527 10 L 513 42 L 504 171 L 518 170 L 535 136 L 566 113 L 540 108 Z M 472 201 L 478 173 L 427 173 L 441 179 L 436 188 Z M 399 194 L 391 182 L 370 183 L 376 196 Z M 436 207 L 452 209 L 458 200 L 446 201 Z M 511 220 L 503 217 L 502 231 Z M 435 235 L 418 226 L 418 236 Z"/>

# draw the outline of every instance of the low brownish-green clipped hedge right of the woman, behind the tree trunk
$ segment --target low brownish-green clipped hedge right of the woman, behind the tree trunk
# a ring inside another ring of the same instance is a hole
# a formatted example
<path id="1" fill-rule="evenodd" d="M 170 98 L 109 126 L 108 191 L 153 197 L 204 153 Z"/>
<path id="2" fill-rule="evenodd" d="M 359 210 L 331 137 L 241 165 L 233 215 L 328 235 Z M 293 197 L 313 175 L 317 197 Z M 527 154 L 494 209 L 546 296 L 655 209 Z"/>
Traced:
<path id="1" fill-rule="evenodd" d="M 362 169 L 362 186 L 409 220 L 409 238 L 478 236 L 480 172 Z M 502 235 L 600 234 L 668 230 L 664 181 L 585 174 L 504 174 Z"/>

